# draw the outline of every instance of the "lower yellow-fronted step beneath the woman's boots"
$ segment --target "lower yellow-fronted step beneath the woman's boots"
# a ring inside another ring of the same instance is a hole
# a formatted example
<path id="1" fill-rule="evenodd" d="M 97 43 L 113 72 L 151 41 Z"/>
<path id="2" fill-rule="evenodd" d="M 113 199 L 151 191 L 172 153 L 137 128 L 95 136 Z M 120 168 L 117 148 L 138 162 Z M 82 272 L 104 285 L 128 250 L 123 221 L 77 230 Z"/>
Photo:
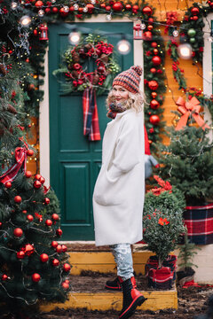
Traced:
<path id="1" fill-rule="evenodd" d="M 106 280 L 114 278 L 114 274 L 92 274 L 91 276 L 71 276 L 73 292 L 70 292 L 65 303 L 43 303 L 41 311 L 51 311 L 60 308 L 87 308 L 88 310 L 116 310 L 122 309 L 122 292 L 111 292 L 105 290 Z M 146 302 L 138 307 L 141 310 L 160 310 L 167 308 L 177 309 L 176 286 L 169 291 L 154 291 L 147 288 L 146 277 L 137 276 L 138 290 L 147 298 Z"/>

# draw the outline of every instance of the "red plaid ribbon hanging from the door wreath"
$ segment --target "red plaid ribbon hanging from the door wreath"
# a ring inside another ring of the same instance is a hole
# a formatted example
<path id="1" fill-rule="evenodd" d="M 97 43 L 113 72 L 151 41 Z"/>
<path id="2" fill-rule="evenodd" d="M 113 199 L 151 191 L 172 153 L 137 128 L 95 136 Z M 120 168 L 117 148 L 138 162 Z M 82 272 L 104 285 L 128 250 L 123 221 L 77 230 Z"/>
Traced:
<path id="1" fill-rule="evenodd" d="M 99 141 L 99 115 L 94 89 L 83 91 L 83 135 L 90 141 Z"/>

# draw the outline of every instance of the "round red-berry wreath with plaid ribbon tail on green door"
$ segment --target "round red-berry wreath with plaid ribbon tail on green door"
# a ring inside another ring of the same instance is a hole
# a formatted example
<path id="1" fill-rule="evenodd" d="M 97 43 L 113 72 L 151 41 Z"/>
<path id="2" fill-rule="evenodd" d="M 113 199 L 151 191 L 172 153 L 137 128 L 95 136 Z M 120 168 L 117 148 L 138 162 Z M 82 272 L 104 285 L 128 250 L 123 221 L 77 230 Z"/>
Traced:
<path id="1" fill-rule="evenodd" d="M 92 72 L 87 70 L 90 61 L 95 66 Z M 79 44 L 67 48 L 62 55 L 62 63 L 59 69 L 53 71 L 53 75 L 59 79 L 63 94 L 83 92 L 83 134 L 91 141 L 98 141 L 100 133 L 96 95 L 109 90 L 115 74 L 120 71 L 114 59 L 114 46 L 100 35 L 89 34 Z"/>

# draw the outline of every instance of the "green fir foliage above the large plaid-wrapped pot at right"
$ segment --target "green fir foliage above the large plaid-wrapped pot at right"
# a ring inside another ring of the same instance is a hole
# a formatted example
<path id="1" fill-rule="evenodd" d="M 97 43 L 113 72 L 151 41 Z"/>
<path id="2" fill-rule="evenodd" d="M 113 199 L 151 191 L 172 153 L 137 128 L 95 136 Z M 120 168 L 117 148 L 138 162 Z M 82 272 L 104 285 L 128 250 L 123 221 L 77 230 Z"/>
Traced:
<path id="1" fill-rule="evenodd" d="M 160 145 L 161 175 L 185 195 L 186 204 L 213 197 L 213 149 L 208 129 L 170 129 L 170 145 Z"/>

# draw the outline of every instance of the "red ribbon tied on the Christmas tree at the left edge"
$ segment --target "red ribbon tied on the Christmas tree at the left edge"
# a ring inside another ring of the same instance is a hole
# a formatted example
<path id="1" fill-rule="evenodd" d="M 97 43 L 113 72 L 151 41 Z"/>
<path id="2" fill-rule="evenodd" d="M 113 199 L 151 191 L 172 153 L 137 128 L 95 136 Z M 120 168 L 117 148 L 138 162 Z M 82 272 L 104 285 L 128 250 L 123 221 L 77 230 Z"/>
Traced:
<path id="1" fill-rule="evenodd" d="M 15 149 L 15 159 L 17 163 L 9 168 L 4 175 L 0 176 L 0 183 L 12 182 L 23 164 L 24 171 L 26 172 L 27 150 L 25 147 L 17 147 Z"/>

